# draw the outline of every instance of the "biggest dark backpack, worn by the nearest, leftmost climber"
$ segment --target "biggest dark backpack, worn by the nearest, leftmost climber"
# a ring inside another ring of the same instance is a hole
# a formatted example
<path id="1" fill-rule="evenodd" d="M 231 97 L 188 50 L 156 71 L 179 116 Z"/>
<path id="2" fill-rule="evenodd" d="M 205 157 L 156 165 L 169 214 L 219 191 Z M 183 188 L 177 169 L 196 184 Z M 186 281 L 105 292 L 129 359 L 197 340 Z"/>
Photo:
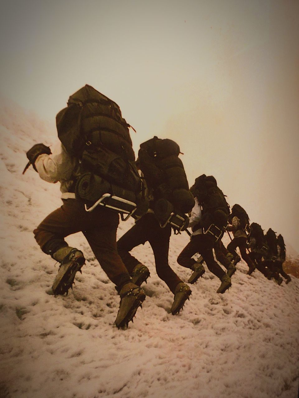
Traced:
<path id="1" fill-rule="evenodd" d="M 69 97 L 67 107 L 56 116 L 56 126 L 65 149 L 80 162 L 78 199 L 91 205 L 103 194 L 111 194 L 138 201 L 141 179 L 130 125 L 114 101 L 87 84 Z"/>

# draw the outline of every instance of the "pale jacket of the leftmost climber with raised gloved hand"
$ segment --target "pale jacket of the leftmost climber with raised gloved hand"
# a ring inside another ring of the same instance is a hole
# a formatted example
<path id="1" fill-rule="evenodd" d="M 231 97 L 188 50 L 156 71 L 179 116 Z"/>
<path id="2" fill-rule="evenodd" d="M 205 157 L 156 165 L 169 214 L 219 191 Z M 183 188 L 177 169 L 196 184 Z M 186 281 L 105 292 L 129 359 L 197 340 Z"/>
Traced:
<path id="1" fill-rule="evenodd" d="M 57 142 L 51 148 L 52 154 L 41 154 L 35 160 L 35 167 L 39 177 L 47 182 L 60 182 L 62 198 L 75 197 L 75 195 L 65 195 L 73 184 L 73 177 L 78 169 L 77 159 L 67 153 L 61 142 Z"/>

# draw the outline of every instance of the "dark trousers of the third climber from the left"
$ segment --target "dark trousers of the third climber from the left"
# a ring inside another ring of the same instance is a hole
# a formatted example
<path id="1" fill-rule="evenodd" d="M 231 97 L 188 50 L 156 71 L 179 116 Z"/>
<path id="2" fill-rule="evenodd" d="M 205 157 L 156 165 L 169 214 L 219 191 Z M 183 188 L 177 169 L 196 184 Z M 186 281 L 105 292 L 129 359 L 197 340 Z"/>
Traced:
<path id="1" fill-rule="evenodd" d="M 209 270 L 221 280 L 225 272 L 214 259 L 213 246 L 213 236 L 205 234 L 191 236 L 190 242 L 179 254 L 177 262 L 183 267 L 192 269 L 193 265 L 196 263 L 195 259 L 192 257 L 196 253 L 199 253 L 203 256 Z"/>

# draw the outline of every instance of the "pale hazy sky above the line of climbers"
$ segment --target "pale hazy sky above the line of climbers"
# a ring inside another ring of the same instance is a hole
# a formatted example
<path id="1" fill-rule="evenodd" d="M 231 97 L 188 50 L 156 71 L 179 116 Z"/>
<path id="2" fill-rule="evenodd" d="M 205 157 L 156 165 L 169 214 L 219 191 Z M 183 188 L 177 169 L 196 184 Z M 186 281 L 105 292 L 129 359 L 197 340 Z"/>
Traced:
<path id="1" fill-rule="evenodd" d="M 297 0 L 10 0 L 0 15 L 3 96 L 54 122 L 94 86 L 137 130 L 136 154 L 175 140 L 189 185 L 214 175 L 299 251 Z"/>

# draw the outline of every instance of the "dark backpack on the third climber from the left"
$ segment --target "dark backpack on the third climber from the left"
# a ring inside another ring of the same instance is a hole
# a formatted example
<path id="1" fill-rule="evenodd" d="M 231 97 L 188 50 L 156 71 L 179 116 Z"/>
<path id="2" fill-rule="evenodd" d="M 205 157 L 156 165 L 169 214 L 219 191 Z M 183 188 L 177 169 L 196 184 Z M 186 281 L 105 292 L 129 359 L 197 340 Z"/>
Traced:
<path id="1" fill-rule="evenodd" d="M 216 179 L 202 174 L 195 179 L 190 190 L 203 208 L 201 224 L 204 230 L 208 230 L 211 224 L 223 230 L 227 226 L 230 207 Z"/>

